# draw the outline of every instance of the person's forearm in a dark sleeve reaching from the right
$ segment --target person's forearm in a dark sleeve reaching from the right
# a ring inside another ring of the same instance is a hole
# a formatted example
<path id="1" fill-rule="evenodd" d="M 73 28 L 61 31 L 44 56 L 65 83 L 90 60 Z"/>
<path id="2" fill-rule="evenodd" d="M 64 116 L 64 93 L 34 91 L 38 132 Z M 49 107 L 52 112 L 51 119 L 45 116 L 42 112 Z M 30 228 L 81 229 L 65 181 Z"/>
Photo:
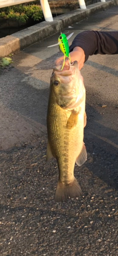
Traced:
<path id="1" fill-rule="evenodd" d="M 70 46 L 70 52 L 81 47 L 85 53 L 85 61 L 93 54 L 118 54 L 118 31 L 100 32 L 84 31 L 78 34 Z"/>

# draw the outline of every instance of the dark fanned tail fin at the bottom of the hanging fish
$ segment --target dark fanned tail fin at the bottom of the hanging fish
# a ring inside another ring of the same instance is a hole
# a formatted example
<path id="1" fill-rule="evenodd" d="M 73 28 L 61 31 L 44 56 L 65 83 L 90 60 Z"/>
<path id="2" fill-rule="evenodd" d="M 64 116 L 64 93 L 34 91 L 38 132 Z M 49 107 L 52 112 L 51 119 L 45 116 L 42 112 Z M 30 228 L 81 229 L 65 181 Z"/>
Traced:
<path id="1" fill-rule="evenodd" d="M 76 178 L 74 178 L 73 183 L 66 186 L 58 181 L 55 193 L 55 202 L 64 202 L 69 198 L 77 198 L 80 196 L 82 196 L 82 190 Z"/>

